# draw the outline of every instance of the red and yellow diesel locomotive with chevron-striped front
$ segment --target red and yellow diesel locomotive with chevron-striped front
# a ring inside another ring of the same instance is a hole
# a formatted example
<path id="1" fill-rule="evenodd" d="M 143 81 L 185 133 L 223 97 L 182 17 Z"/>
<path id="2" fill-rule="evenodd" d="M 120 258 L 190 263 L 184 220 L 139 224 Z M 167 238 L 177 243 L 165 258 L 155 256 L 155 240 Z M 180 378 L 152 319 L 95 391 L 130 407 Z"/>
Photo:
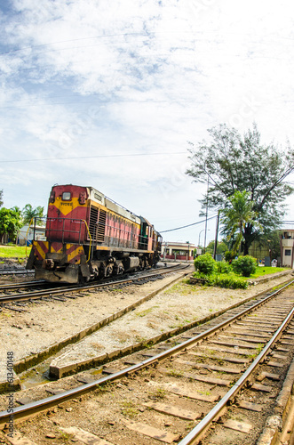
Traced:
<path id="1" fill-rule="evenodd" d="M 80 283 L 150 268 L 162 238 L 142 216 L 92 187 L 55 185 L 49 198 L 46 241 L 33 240 L 27 269 L 36 279 Z"/>

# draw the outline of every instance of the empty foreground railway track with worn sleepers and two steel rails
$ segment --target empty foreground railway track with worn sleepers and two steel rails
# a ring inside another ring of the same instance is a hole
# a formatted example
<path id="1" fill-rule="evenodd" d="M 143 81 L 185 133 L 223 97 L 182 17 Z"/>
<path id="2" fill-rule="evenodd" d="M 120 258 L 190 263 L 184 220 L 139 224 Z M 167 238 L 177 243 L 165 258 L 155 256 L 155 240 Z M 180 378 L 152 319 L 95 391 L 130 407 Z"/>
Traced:
<path id="1" fill-rule="evenodd" d="M 68 377 L 54 395 L 13 408 L 14 420 L 47 410 L 54 437 L 85 443 L 256 443 L 293 358 L 290 284 L 201 333 L 180 336 L 172 347 L 161 344 L 117 360 L 99 379 L 89 373 Z M 87 392 L 93 393 L 75 404 Z M 99 416 L 93 416 L 94 406 Z M 8 422 L 9 413 L 1 412 L 0 425 Z M 36 429 L 22 423 L 21 431 L 36 443 L 50 443 L 38 422 Z"/>

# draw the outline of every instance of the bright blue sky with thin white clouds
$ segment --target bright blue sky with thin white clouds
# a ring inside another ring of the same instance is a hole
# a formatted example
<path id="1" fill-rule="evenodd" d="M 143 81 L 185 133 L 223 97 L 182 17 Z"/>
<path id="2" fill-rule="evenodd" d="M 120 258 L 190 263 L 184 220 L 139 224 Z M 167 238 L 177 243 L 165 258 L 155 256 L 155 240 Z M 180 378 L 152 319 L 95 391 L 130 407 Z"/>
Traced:
<path id="1" fill-rule="evenodd" d="M 293 146 L 293 25 L 290 0 L 0 0 L 4 206 L 74 183 L 157 231 L 203 221 L 188 142 L 256 122 Z M 204 223 L 163 239 L 203 245 Z"/>

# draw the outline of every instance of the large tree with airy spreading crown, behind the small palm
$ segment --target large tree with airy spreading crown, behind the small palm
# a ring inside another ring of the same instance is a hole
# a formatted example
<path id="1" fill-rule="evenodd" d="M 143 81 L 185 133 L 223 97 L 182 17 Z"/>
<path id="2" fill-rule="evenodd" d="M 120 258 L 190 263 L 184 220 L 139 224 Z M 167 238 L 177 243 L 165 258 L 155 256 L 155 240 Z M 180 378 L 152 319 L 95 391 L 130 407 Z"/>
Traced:
<path id="1" fill-rule="evenodd" d="M 236 190 L 250 193 L 252 211 L 260 224 L 245 223 L 243 228 L 244 254 L 250 244 L 260 238 L 260 227 L 271 231 L 279 227 L 284 214 L 282 203 L 293 192 L 284 182 L 294 170 L 294 150 L 288 146 L 278 149 L 274 144 L 262 145 L 256 125 L 241 136 L 225 124 L 209 130 L 211 142 L 197 146 L 189 142 L 191 168 L 187 174 L 195 182 L 208 183 L 208 190 L 200 202 L 203 208 L 224 209 L 227 198 Z"/>

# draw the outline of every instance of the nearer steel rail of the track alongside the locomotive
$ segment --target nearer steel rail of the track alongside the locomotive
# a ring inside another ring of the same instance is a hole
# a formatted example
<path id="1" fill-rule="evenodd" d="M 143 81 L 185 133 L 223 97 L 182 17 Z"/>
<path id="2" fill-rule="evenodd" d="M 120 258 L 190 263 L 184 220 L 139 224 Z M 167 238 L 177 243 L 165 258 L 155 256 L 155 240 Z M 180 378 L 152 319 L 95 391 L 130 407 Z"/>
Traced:
<path id="1" fill-rule="evenodd" d="M 117 284 L 123 284 L 123 283 L 131 283 L 132 281 L 137 280 L 137 279 L 147 279 L 150 277 L 155 277 L 156 275 L 164 275 L 166 273 L 170 273 L 171 271 L 185 270 L 185 269 L 187 269 L 187 267 L 189 267 L 187 264 L 185 264 L 184 266 L 177 265 L 175 267 L 169 267 L 167 270 L 164 268 L 164 271 L 157 270 L 153 273 L 148 273 L 146 275 L 143 275 L 143 276 L 140 276 L 137 278 L 119 279 L 119 280 L 115 280 L 115 281 L 107 281 L 107 282 L 97 283 L 97 284 L 87 284 L 86 286 L 73 285 L 73 286 L 69 286 L 69 287 L 59 287 L 58 289 L 51 287 L 49 289 L 44 289 L 44 290 L 34 290 L 29 293 L 0 296 L 0 303 L 10 303 L 12 301 L 38 299 L 38 298 L 40 298 L 40 296 L 44 296 L 44 295 L 60 295 L 60 294 L 64 294 L 65 292 L 75 292 L 75 291 L 83 292 L 85 290 L 93 289 L 93 288 L 97 288 L 97 287 L 99 288 L 99 287 L 115 286 Z M 0 288 L 0 290 L 1 290 L 1 288 Z"/>

